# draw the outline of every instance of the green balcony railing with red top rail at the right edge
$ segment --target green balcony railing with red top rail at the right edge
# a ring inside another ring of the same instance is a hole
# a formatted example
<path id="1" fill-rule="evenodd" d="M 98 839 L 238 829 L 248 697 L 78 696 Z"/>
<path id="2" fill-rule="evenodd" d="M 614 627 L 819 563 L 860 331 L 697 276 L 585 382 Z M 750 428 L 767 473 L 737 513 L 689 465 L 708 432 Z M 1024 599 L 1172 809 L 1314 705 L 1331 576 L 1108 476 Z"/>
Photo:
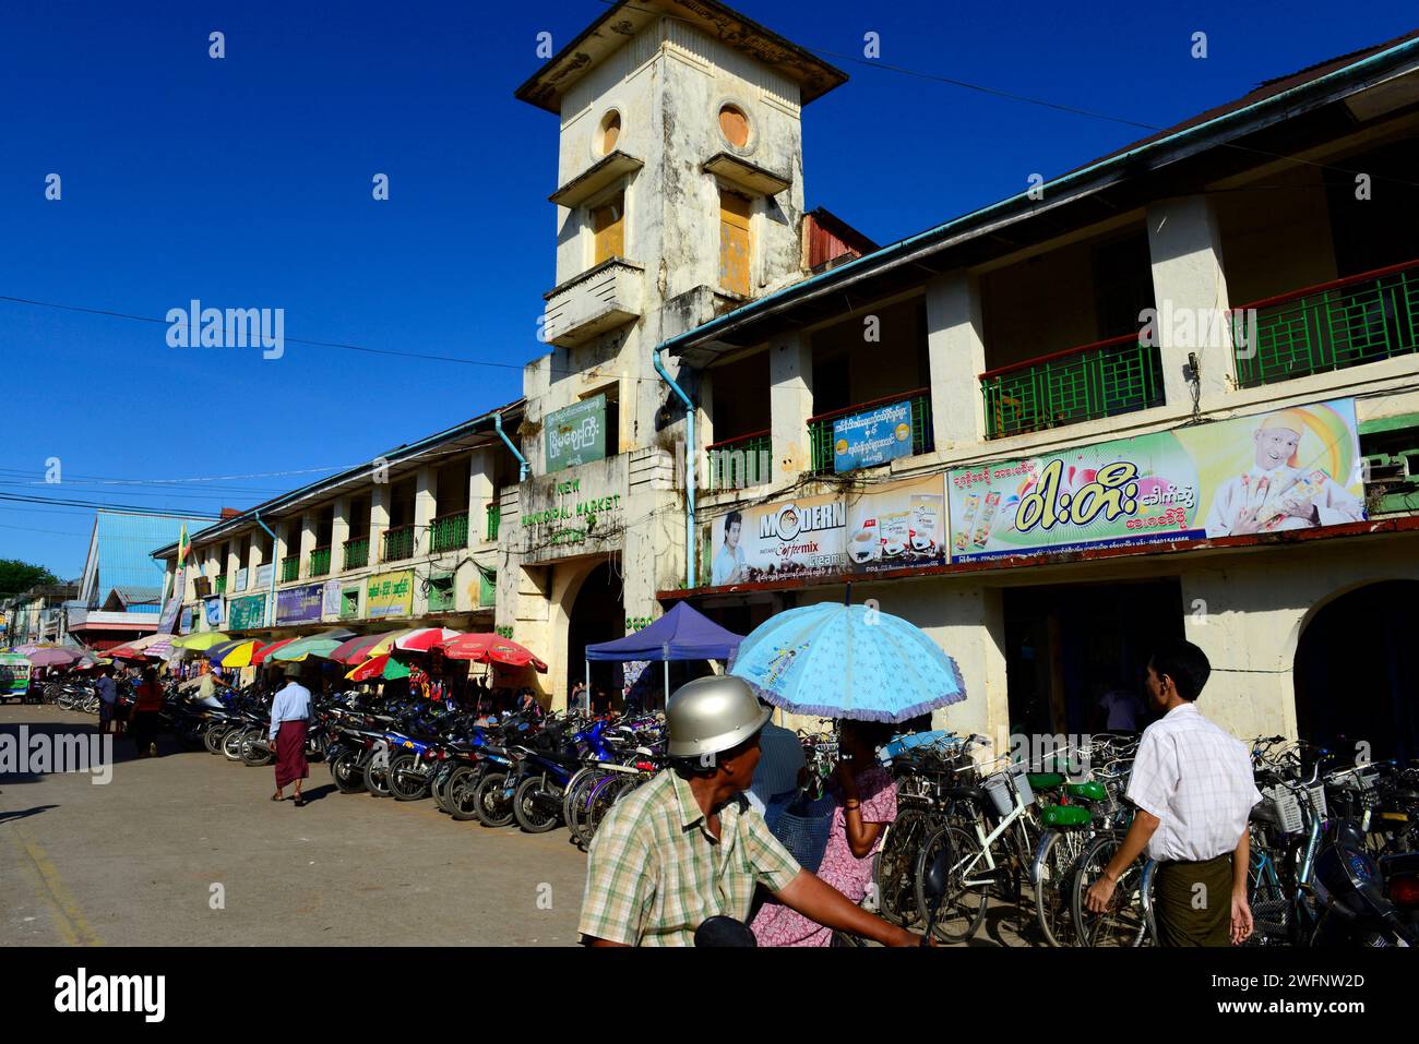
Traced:
<path id="1" fill-rule="evenodd" d="M 1419 261 L 1235 308 L 1232 343 L 1239 387 L 1412 355 L 1419 350 Z"/>

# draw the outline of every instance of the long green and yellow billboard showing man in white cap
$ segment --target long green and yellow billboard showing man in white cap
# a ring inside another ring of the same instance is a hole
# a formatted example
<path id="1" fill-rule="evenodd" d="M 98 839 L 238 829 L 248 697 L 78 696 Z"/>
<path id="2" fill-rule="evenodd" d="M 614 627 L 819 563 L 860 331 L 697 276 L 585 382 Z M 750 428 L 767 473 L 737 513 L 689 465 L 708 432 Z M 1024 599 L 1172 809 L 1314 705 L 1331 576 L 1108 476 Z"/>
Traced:
<path id="1" fill-rule="evenodd" d="M 1352 399 L 956 468 L 946 481 L 956 562 L 1365 519 Z"/>

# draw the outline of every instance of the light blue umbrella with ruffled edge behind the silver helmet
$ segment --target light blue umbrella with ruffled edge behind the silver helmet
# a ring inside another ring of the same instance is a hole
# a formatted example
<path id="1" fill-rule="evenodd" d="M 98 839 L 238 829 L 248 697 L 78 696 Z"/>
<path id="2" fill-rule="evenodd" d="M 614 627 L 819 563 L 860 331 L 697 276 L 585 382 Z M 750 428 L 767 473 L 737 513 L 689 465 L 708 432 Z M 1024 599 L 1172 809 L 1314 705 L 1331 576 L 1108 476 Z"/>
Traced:
<path id="1" fill-rule="evenodd" d="M 966 698 L 956 661 L 915 624 L 824 603 L 771 617 L 729 674 L 792 713 L 900 723 Z"/>

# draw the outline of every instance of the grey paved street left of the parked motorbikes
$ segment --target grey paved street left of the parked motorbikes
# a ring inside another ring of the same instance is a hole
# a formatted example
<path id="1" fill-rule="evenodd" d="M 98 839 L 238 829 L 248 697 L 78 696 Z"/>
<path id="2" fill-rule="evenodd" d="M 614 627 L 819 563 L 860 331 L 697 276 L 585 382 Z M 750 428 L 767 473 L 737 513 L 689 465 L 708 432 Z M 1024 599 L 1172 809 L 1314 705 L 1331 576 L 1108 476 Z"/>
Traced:
<path id="1" fill-rule="evenodd" d="M 21 723 L 95 731 L 89 715 L 0 706 L 0 732 Z M 0 946 L 576 940 L 586 861 L 566 831 L 485 830 L 429 800 L 341 794 L 321 763 L 315 800 L 275 804 L 270 767 L 160 749 L 135 760 L 119 738 L 106 786 L 0 776 Z M 213 884 L 224 909 L 210 906 Z"/>

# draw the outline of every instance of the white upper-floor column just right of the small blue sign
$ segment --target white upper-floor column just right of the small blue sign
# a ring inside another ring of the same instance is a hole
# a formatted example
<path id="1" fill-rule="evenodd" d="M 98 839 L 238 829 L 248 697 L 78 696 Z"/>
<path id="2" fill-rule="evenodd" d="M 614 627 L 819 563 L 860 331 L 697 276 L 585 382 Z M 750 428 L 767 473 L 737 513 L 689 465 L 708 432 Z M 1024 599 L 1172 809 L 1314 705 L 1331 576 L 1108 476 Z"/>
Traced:
<path id="1" fill-rule="evenodd" d="M 981 374 L 986 365 L 979 279 L 958 272 L 927 284 L 927 352 L 937 450 L 981 444 Z"/>

